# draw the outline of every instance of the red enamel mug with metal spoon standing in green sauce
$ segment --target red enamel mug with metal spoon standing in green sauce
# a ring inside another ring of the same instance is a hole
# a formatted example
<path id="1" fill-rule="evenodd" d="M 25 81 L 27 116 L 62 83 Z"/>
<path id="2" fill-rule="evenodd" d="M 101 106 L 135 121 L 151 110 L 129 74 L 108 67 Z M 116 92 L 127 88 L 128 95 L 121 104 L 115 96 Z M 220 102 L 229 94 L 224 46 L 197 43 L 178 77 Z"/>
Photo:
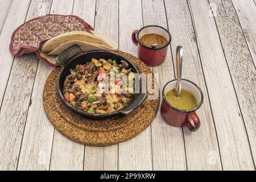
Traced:
<path id="1" fill-rule="evenodd" d="M 161 115 L 166 123 L 171 126 L 185 126 L 189 131 L 196 131 L 200 127 L 200 119 L 195 113 L 197 109 L 203 104 L 203 92 L 194 82 L 181 79 L 181 70 L 183 62 L 183 47 L 177 46 L 176 48 L 176 72 L 177 80 L 172 80 L 164 85 L 162 96 L 163 101 L 161 105 Z M 168 90 L 176 89 L 177 97 L 183 97 L 181 94 L 181 85 L 185 90 L 189 90 L 195 96 L 197 105 L 189 110 L 177 109 L 172 106 L 166 99 L 166 93 Z"/>

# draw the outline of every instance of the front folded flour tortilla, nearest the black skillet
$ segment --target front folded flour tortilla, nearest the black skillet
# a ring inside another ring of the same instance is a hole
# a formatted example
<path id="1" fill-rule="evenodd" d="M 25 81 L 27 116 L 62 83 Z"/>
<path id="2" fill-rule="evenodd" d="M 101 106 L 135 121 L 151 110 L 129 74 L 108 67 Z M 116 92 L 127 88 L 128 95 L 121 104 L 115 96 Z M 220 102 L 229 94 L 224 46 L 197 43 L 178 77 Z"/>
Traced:
<path id="1" fill-rule="evenodd" d="M 82 52 L 94 51 L 94 50 L 113 50 L 109 47 L 102 46 L 100 44 L 90 44 L 88 42 L 83 42 L 80 40 L 72 40 L 61 44 L 59 47 L 55 48 L 52 52 L 49 52 L 48 55 L 60 55 L 61 52 L 65 51 L 65 49 L 77 45 L 81 48 Z"/>

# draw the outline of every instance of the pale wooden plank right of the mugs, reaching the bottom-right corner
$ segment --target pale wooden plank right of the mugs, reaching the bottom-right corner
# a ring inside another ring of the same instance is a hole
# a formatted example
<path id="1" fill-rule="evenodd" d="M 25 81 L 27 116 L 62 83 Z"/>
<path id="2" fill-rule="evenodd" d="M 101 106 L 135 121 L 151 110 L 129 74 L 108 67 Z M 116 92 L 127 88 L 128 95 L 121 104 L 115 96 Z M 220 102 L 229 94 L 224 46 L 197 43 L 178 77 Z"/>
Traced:
<path id="1" fill-rule="evenodd" d="M 208 1 L 188 1 L 224 170 L 253 169 L 250 146 L 236 92 Z M 211 12 L 210 12 L 211 13 Z M 225 112 L 224 112 L 225 110 Z"/>

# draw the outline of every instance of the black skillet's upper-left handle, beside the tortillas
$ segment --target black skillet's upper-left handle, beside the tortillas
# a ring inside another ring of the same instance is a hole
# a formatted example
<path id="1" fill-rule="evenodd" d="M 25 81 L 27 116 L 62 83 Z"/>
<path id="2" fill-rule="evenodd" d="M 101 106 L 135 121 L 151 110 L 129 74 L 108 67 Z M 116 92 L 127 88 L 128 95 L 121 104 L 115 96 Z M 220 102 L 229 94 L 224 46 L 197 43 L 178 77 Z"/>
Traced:
<path id="1" fill-rule="evenodd" d="M 74 45 L 65 49 L 65 51 L 63 51 L 59 56 L 57 56 L 56 61 L 60 66 L 64 67 L 64 65 L 67 64 L 69 60 L 71 60 L 73 57 L 77 55 L 80 55 L 81 53 L 82 50 L 80 49 L 80 47 Z"/>

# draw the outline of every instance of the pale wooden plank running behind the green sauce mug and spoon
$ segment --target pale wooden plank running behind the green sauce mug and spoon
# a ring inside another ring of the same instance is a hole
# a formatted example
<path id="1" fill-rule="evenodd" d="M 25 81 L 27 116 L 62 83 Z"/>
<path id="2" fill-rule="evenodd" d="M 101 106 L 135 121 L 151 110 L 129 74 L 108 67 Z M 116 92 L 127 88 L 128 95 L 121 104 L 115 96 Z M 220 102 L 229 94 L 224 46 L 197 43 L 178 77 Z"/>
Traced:
<path id="1" fill-rule="evenodd" d="M 203 105 L 197 111 L 201 119 L 200 129 L 190 133 L 184 128 L 187 167 L 188 170 L 220 170 L 216 131 L 187 1 L 165 1 L 165 5 L 168 26 L 173 38 L 172 55 L 175 55 L 176 46 L 183 46 L 183 78 L 199 85 L 205 98 Z M 214 155 L 213 162 L 211 155 Z"/>

